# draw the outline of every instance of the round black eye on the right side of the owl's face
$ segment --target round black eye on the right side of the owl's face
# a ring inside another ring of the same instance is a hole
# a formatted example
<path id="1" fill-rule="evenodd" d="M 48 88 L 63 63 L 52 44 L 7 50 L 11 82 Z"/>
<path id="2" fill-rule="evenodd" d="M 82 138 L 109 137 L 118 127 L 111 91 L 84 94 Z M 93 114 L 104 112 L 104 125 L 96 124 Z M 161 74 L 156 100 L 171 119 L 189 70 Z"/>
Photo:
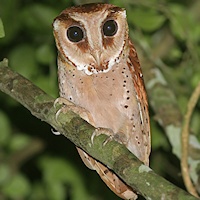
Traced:
<path id="1" fill-rule="evenodd" d="M 103 25 L 103 34 L 105 36 L 113 36 L 117 33 L 118 26 L 115 20 L 108 20 Z"/>

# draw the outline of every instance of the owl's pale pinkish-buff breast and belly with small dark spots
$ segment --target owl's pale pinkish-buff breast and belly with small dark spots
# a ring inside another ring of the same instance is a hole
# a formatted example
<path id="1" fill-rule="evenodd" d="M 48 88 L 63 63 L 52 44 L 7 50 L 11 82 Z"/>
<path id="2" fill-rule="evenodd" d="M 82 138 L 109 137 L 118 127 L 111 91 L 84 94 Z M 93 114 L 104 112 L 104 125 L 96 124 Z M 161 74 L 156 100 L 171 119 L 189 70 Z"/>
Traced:
<path id="1" fill-rule="evenodd" d="M 95 127 L 119 134 L 127 148 L 144 160 L 139 146 L 146 142 L 143 111 L 128 67 L 119 63 L 107 73 L 86 75 L 74 66 L 59 65 L 60 96 L 88 110 Z M 89 122 L 90 123 L 90 122 Z"/>

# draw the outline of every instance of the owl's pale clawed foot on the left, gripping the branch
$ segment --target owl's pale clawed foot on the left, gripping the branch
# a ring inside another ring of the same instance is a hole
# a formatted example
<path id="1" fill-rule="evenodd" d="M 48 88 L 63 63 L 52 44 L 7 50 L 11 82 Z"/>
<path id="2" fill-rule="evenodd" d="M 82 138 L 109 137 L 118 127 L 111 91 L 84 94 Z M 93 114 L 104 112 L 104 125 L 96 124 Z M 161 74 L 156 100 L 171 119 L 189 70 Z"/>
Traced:
<path id="1" fill-rule="evenodd" d="M 60 115 L 60 113 L 67 113 L 68 111 L 72 111 L 76 113 L 77 115 L 79 115 L 82 119 L 84 119 L 85 121 L 87 121 L 88 123 L 94 126 L 93 117 L 90 114 L 90 112 L 87 111 L 86 109 L 75 105 L 74 103 L 72 103 L 71 101 L 63 97 L 59 97 L 55 100 L 54 107 L 56 106 L 56 104 L 62 105 L 62 107 L 56 113 L 56 120 L 58 119 L 58 116 Z"/>

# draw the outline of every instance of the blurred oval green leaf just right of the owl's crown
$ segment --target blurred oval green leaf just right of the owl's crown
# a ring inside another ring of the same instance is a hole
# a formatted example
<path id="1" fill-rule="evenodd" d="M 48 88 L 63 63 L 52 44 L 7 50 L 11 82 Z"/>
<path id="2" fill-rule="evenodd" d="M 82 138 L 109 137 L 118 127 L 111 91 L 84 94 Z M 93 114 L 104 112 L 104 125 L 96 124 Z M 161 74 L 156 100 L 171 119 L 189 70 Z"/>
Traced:
<path id="1" fill-rule="evenodd" d="M 165 21 L 165 17 L 155 10 L 134 8 L 128 12 L 128 20 L 144 31 L 155 31 Z"/>

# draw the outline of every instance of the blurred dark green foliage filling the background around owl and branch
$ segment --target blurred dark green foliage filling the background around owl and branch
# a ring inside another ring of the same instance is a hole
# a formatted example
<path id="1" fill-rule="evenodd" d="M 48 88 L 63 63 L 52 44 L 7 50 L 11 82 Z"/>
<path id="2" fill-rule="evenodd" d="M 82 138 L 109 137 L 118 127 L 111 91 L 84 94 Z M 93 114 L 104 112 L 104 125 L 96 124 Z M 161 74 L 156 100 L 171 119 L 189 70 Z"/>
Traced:
<path id="1" fill-rule="evenodd" d="M 0 38 L 3 30 L 5 37 L 0 39 L 0 60 L 8 58 L 12 69 L 58 97 L 52 22 L 66 7 L 83 3 L 86 1 L 1 0 Z M 200 81 L 200 1 L 111 0 L 110 3 L 127 10 L 130 36 L 141 60 L 147 89 L 152 83 L 168 84 L 178 109 L 184 114 L 189 97 Z M 148 71 L 149 65 L 157 73 L 153 82 L 148 81 L 152 72 Z M 153 94 L 160 98 L 160 90 Z M 171 139 L 168 138 L 160 114 L 153 109 L 156 103 L 151 95 L 148 93 L 153 133 L 150 165 L 158 174 L 185 189 L 180 157 L 173 154 L 174 144 L 181 148 L 180 135 L 176 134 L 179 129 L 171 128 Z M 199 121 L 200 103 L 192 117 L 190 148 L 191 175 L 198 190 Z M 0 93 L 0 199 L 118 198 L 95 172 L 84 166 L 71 142 L 53 135 L 50 126 Z"/>

